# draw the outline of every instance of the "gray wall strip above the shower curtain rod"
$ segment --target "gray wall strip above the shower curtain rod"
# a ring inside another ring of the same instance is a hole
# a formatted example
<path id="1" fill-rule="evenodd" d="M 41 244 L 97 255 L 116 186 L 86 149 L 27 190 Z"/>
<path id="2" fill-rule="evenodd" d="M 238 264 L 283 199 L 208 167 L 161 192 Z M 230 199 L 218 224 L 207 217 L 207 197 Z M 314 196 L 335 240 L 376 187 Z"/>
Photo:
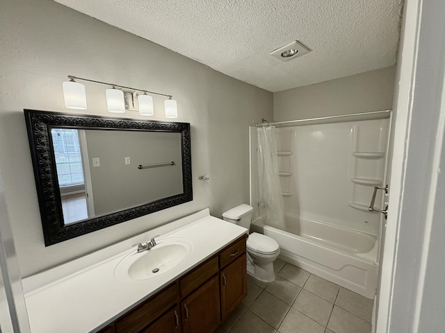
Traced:
<path id="1" fill-rule="evenodd" d="M 337 78 L 273 94 L 273 120 L 285 121 L 357 112 L 392 106 L 396 67 Z"/>

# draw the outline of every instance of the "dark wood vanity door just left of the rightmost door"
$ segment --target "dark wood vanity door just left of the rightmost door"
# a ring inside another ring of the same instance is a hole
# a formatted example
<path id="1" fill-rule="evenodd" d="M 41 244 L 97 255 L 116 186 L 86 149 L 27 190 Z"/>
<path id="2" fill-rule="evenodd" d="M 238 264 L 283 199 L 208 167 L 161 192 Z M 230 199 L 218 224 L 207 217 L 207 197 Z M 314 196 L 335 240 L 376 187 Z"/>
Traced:
<path id="1" fill-rule="evenodd" d="M 209 333 L 220 324 L 218 275 L 181 302 L 183 333 Z"/>

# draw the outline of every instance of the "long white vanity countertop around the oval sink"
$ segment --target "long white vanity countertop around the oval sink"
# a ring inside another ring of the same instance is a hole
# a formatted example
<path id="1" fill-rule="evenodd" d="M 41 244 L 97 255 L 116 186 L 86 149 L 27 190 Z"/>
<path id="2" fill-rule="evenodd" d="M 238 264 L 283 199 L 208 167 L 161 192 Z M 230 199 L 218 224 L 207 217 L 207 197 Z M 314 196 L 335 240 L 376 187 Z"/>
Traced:
<path id="1" fill-rule="evenodd" d="M 69 275 L 63 276 L 61 273 L 72 270 L 70 263 L 67 263 L 25 278 L 23 285 L 31 332 L 97 332 L 211 255 L 218 253 L 246 231 L 238 225 L 210 216 L 209 210 L 198 212 L 186 219 L 192 222 L 167 234 L 161 234 L 159 239 L 188 239 L 193 244 L 193 253 L 185 262 L 159 277 L 135 282 L 118 281 L 114 274 L 115 267 L 125 255 L 136 251 L 135 248 L 126 246 L 127 250 L 119 254 L 113 254 L 111 249 L 108 251 L 111 252 L 111 257 L 96 263 L 91 263 L 88 256 L 77 259 L 72 265 L 79 266 L 79 262 L 83 261 L 88 262 L 89 266 Z M 157 229 L 149 233 L 154 235 L 156 232 Z M 145 239 L 147 240 L 149 238 Z M 140 242 L 140 237 L 133 237 L 130 241 L 121 243 L 134 244 L 133 241 Z M 122 248 L 122 244 L 111 248 Z M 90 256 L 106 257 L 107 249 L 98 252 L 99 255 Z M 54 276 L 57 276 L 56 280 Z M 47 282 L 42 284 L 42 281 Z"/>

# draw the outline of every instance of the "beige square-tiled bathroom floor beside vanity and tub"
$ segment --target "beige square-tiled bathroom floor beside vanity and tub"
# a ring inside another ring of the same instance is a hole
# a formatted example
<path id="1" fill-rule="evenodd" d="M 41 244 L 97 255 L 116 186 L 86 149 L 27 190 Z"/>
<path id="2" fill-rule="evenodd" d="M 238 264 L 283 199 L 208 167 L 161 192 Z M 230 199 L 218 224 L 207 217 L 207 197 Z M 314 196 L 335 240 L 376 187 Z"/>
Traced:
<path id="1" fill-rule="evenodd" d="M 214 333 L 370 333 L 373 301 L 277 259 Z"/>

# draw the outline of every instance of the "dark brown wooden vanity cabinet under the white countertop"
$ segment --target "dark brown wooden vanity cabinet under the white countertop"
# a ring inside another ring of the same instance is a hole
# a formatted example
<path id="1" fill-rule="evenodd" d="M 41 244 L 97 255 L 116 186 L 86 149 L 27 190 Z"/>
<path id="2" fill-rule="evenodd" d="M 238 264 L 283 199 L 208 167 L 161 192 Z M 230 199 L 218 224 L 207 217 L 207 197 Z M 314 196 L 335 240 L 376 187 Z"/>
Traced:
<path id="1" fill-rule="evenodd" d="M 247 295 L 243 235 L 99 333 L 209 333 Z"/>

